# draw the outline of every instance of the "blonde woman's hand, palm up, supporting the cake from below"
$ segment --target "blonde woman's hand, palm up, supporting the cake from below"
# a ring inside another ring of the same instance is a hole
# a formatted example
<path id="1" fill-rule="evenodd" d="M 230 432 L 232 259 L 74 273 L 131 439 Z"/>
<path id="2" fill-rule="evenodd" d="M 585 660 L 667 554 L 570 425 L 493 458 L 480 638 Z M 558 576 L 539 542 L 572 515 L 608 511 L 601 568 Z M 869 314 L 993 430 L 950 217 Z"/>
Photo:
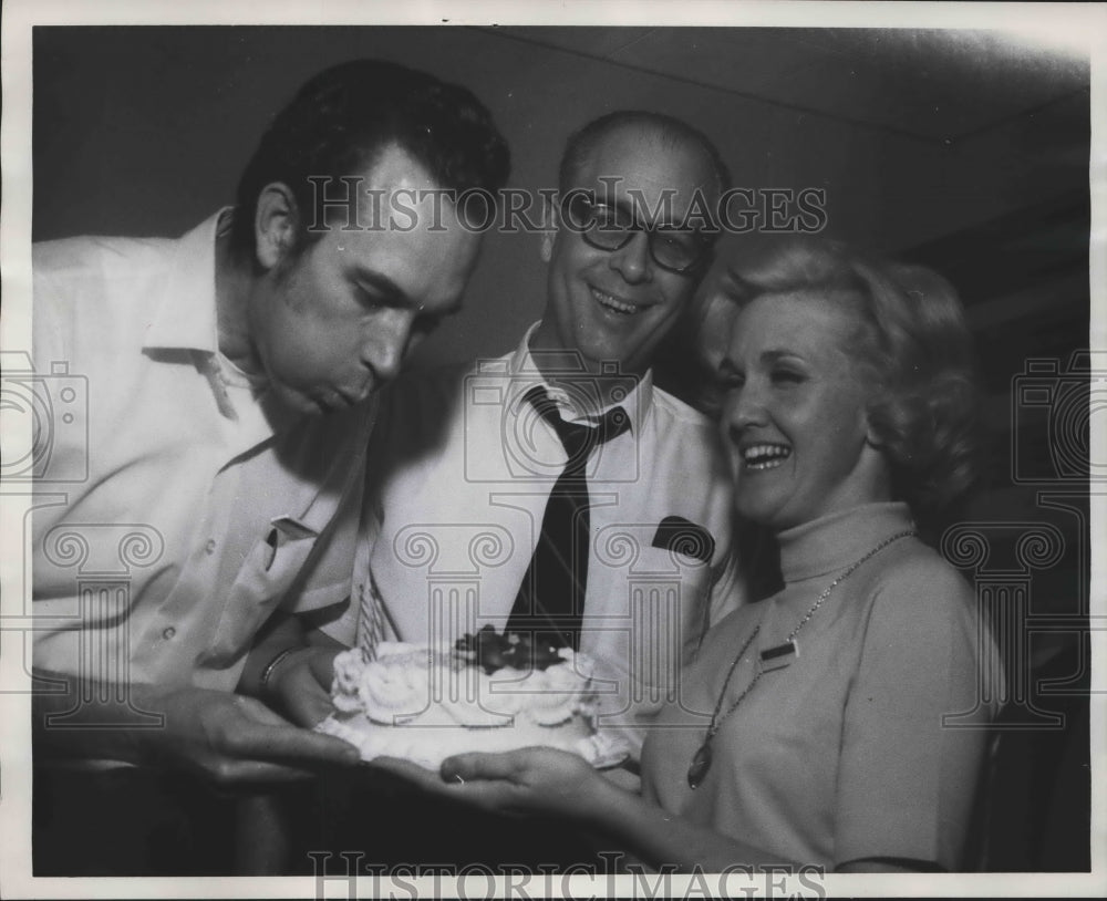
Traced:
<path id="1" fill-rule="evenodd" d="M 606 793 L 619 790 L 583 758 L 545 747 L 459 754 L 444 760 L 438 773 L 394 758 L 373 763 L 424 790 L 513 816 L 587 819 Z"/>

